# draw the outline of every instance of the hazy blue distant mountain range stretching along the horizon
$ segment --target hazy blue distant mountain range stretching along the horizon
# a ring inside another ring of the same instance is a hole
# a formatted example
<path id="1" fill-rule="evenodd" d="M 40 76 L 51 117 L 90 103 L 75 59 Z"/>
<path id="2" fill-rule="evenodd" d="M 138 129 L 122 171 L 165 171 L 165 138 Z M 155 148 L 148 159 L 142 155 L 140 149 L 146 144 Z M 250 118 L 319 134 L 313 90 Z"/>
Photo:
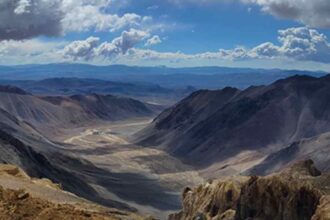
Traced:
<path id="1" fill-rule="evenodd" d="M 2 80 L 41 80 L 47 78 L 90 78 L 124 83 L 151 83 L 165 88 L 219 89 L 225 86 L 247 88 L 264 85 L 293 75 L 323 76 L 322 71 L 252 69 L 230 67 L 166 66 L 93 66 L 87 64 L 54 63 L 42 65 L 0 66 Z"/>

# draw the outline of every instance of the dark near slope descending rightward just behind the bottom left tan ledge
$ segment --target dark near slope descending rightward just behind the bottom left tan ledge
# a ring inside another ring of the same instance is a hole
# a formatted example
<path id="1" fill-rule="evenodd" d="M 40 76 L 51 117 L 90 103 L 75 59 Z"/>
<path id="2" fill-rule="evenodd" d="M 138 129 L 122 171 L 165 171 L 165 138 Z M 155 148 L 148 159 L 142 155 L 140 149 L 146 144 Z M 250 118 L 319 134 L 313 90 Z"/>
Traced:
<path id="1" fill-rule="evenodd" d="M 99 168 L 82 159 L 62 152 L 62 146 L 43 137 L 28 123 L 18 120 L 4 110 L 0 110 L 0 163 L 21 167 L 28 175 L 48 178 L 61 183 L 67 191 L 91 201 L 111 207 L 131 209 L 125 204 L 107 200 L 90 186 L 92 179 L 88 173 L 102 172 Z M 83 171 L 89 170 L 86 175 Z M 108 173 L 108 175 L 111 175 Z"/>

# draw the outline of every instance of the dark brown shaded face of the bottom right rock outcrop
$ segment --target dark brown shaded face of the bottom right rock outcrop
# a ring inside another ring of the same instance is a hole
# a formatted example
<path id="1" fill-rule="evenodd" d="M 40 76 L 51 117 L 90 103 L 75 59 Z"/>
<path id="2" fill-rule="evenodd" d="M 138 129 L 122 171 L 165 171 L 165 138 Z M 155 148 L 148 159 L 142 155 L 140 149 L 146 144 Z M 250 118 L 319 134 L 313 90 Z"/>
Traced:
<path id="1" fill-rule="evenodd" d="M 252 177 L 241 189 L 236 219 L 310 219 L 321 195 L 305 184 Z"/>

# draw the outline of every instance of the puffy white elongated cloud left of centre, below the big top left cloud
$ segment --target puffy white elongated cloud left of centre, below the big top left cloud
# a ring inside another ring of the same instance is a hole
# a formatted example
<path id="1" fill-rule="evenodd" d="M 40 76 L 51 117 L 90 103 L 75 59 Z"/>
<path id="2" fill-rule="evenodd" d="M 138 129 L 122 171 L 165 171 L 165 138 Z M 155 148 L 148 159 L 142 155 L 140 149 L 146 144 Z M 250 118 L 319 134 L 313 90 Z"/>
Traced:
<path id="1" fill-rule="evenodd" d="M 114 58 L 126 54 L 129 49 L 149 36 L 148 32 L 130 29 L 123 31 L 120 37 L 111 42 L 100 43 L 99 38 L 89 37 L 83 41 L 72 42 L 63 49 L 62 53 L 64 57 L 73 60 L 91 60 L 99 57 Z"/>

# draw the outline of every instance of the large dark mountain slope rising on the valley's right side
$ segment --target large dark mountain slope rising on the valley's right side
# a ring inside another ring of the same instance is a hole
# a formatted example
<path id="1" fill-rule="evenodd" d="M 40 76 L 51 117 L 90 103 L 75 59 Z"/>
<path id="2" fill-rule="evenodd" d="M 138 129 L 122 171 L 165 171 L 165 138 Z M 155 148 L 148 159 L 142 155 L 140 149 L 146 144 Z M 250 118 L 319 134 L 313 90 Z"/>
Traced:
<path id="1" fill-rule="evenodd" d="M 256 152 L 260 159 L 330 131 L 329 99 L 330 77 L 294 76 L 243 91 L 198 91 L 160 114 L 136 142 L 160 145 L 201 166 L 242 152 Z"/>

